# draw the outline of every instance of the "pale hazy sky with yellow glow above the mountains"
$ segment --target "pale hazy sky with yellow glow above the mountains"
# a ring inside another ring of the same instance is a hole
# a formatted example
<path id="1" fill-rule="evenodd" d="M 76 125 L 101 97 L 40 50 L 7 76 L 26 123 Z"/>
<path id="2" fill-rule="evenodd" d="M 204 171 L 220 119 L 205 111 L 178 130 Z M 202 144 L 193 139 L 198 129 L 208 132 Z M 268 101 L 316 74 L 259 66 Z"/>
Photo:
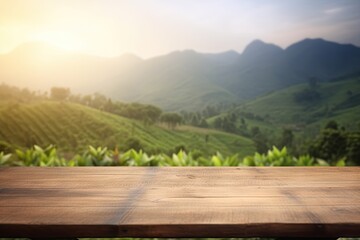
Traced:
<path id="1" fill-rule="evenodd" d="M 360 0 L 0 0 L 0 53 L 27 41 L 101 56 L 242 52 L 262 39 L 360 46 Z"/>

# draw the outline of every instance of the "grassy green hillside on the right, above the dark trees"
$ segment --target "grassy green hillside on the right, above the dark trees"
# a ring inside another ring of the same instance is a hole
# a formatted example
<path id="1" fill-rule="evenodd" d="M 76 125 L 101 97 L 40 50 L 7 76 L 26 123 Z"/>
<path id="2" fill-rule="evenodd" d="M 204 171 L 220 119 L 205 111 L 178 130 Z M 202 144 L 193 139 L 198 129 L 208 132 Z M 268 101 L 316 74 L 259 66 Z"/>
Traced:
<path id="1" fill-rule="evenodd" d="M 305 95 L 299 101 L 296 96 L 308 93 L 309 88 L 308 84 L 298 84 L 274 91 L 242 103 L 229 113 L 209 118 L 208 122 L 214 126 L 217 118 L 235 114 L 237 127 L 241 127 L 241 121 L 245 120 L 247 129 L 257 126 L 267 135 L 277 137 L 284 128 L 311 137 L 330 120 L 335 120 L 347 130 L 360 128 L 359 74 L 320 82 L 314 89 L 318 94 L 316 99 Z"/>

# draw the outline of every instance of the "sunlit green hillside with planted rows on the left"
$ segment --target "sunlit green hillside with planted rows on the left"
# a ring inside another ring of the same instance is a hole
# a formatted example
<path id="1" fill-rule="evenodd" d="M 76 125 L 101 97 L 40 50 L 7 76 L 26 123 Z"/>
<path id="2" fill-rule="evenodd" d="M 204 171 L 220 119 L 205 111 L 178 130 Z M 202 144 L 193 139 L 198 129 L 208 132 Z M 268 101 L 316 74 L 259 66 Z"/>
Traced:
<path id="1" fill-rule="evenodd" d="M 0 102 L 0 141 L 16 147 L 55 144 L 61 152 L 75 152 L 88 145 L 126 148 L 129 139 L 140 140 L 148 152 L 169 152 L 184 146 L 202 154 L 220 151 L 240 156 L 255 152 L 251 140 L 234 134 L 180 126 L 145 126 L 110 113 L 73 103 L 39 101 Z M 207 139 L 207 141 L 205 141 Z"/>

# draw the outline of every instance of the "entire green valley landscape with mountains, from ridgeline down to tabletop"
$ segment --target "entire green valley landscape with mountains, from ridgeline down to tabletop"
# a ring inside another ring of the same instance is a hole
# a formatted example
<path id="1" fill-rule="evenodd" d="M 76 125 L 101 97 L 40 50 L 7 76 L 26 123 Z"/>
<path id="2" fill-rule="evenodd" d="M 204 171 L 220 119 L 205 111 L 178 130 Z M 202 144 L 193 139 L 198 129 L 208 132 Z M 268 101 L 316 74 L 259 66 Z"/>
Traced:
<path id="1" fill-rule="evenodd" d="M 0 66 L 1 165 L 360 164 L 354 45 L 255 40 L 143 60 L 27 43 Z"/>

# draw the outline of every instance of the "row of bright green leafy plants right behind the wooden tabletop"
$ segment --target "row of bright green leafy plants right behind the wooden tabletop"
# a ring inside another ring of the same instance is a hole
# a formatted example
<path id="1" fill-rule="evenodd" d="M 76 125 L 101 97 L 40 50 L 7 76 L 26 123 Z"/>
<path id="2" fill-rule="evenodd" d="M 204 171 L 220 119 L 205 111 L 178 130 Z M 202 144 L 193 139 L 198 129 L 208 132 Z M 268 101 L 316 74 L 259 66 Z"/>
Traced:
<path id="1" fill-rule="evenodd" d="M 194 157 L 197 155 L 198 157 Z M 334 163 L 345 166 L 345 158 Z M 164 153 L 148 155 L 143 150 L 128 150 L 119 153 L 117 149 L 108 150 L 106 147 L 94 148 L 89 146 L 82 154 L 65 160 L 60 157 L 53 145 L 47 148 L 34 146 L 26 150 L 16 150 L 15 155 L 0 152 L 0 166 L 329 166 L 321 159 L 309 155 L 299 157 L 288 153 L 286 147 L 273 147 L 266 154 L 255 153 L 243 159 L 237 154 L 224 157 L 217 152 L 210 158 L 180 150 L 178 153 L 166 155 Z"/>

